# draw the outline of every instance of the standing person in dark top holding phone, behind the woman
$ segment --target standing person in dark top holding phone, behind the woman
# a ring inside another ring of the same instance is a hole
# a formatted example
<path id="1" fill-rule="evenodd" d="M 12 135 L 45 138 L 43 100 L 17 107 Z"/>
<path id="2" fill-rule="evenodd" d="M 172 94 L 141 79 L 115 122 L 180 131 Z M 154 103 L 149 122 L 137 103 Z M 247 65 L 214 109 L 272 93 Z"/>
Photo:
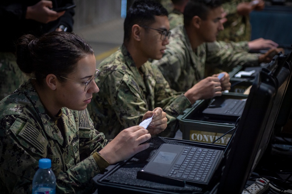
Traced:
<path id="1" fill-rule="evenodd" d="M 40 36 L 73 28 L 74 9 L 55 12 L 51 8 L 73 5 L 72 0 L 29 0 L 0 2 L 0 100 L 16 90 L 28 76 L 16 64 L 15 41 L 25 34 Z"/>

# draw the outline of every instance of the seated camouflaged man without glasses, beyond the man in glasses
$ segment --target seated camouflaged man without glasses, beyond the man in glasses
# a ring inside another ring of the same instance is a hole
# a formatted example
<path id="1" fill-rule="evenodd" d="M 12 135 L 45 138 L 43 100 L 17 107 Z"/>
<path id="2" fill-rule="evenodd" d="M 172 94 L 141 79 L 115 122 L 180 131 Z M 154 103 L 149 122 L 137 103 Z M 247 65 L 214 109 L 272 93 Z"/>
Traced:
<path id="1" fill-rule="evenodd" d="M 270 56 L 274 49 L 259 56 L 244 51 L 242 48 L 248 47 L 247 44 L 243 46 L 215 42 L 218 31 L 224 29 L 220 21 L 220 1 L 199 1 L 190 0 L 187 3 L 184 11 L 185 25 L 171 31 L 170 44 L 165 54 L 160 60 L 152 61 L 159 67 L 171 88 L 178 92 L 188 90 L 204 77 L 220 70 L 229 72 L 236 65 L 259 65 L 270 61 L 274 56 Z M 194 10 L 203 9 L 200 7 L 203 4 L 209 7 L 208 11 L 198 16 Z M 192 21 L 193 18 L 197 20 L 196 24 Z"/>

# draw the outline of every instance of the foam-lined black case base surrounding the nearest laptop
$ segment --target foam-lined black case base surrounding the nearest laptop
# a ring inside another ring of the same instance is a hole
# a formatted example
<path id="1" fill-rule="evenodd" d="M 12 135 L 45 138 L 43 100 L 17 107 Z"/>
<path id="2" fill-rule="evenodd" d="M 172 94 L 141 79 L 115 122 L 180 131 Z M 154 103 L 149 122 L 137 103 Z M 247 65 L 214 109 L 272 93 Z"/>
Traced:
<path id="1" fill-rule="evenodd" d="M 150 147 L 139 152 L 131 159 L 109 166 L 104 174 L 96 175 L 93 178 L 98 194 L 103 193 L 210 193 L 215 188 L 220 177 L 220 168 L 217 169 L 209 185 L 189 185 L 175 186 L 170 184 L 161 184 L 157 182 L 137 179 L 137 173 L 144 168 L 151 157 L 155 154 L 162 143 L 190 145 L 196 147 L 212 148 L 224 150 L 223 145 L 214 145 L 207 143 L 196 143 L 188 140 L 179 140 L 173 138 L 153 137 L 150 141 Z"/>

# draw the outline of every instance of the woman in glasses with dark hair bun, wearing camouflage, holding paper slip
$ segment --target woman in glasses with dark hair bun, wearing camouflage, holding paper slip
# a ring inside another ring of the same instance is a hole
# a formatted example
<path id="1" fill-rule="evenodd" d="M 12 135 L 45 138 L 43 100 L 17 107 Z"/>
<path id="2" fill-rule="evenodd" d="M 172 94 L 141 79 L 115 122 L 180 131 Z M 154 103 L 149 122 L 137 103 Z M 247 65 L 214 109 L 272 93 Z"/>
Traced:
<path id="1" fill-rule="evenodd" d="M 93 127 L 86 107 L 99 91 L 99 70 L 92 48 L 75 33 L 24 35 L 16 47 L 18 66 L 32 79 L 0 101 L 2 193 L 32 193 L 41 158 L 51 159 L 56 193 L 93 193 L 95 175 L 147 149 L 144 142 L 166 128 L 161 108 L 142 119 L 153 116 L 156 130 L 132 126 L 108 140 Z"/>

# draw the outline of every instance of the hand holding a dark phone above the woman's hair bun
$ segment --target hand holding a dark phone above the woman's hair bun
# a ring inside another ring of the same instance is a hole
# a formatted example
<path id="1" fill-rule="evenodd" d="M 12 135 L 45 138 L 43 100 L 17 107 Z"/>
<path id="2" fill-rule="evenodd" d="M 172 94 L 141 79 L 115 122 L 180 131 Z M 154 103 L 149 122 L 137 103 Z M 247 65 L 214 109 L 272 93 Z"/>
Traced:
<path id="1" fill-rule="evenodd" d="M 55 12 L 53 10 L 50 10 L 50 8 L 52 7 L 52 1 L 39 1 L 35 5 L 27 7 L 25 19 L 33 19 L 37 22 L 47 24 L 48 22 L 55 21 L 56 19 L 64 15 L 65 11 Z"/>

